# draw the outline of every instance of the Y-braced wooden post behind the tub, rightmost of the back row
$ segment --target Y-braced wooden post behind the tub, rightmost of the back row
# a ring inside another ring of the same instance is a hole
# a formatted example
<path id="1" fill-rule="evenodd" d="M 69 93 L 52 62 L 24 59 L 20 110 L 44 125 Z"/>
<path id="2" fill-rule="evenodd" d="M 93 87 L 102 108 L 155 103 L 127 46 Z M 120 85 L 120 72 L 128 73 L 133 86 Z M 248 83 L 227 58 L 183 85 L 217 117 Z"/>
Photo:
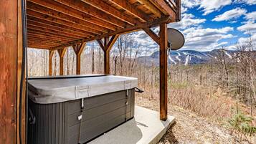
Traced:
<path id="1" fill-rule="evenodd" d="M 104 38 L 104 44 L 103 42 L 98 39 L 97 42 L 100 44 L 100 47 L 104 51 L 104 74 L 110 75 L 110 50 L 115 44 L 116 39 L 118 39 L 118 35 L 113 35 L 108 41 L 108 37 Z"/>

